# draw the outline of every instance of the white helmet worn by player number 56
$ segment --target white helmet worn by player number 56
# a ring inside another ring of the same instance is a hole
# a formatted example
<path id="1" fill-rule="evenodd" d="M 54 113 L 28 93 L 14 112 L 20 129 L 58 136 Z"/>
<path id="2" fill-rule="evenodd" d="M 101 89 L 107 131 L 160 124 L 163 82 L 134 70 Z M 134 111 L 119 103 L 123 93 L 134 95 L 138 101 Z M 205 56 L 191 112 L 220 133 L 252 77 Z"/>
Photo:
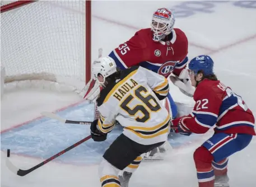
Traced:
<path id="1" fill-rule="evenodd" d="M 92 78 L 104 84 L 107 77 L 117 72 L 117 64 L 111 57 L 101 57 L 92 63 Z M 103 81 L 99 81 L 98 76 L 103 76 Z"/>

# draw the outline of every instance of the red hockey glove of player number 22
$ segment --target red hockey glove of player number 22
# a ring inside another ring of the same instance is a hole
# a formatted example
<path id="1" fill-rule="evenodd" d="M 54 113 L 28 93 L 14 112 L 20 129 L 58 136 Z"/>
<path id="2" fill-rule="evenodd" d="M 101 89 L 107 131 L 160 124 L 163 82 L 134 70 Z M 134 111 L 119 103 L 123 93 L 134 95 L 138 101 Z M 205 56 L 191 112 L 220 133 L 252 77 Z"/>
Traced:
<path id="1" fill-rule="evenodd" d="M 188 116 L 183 116 L 180 118 L 174 119 L 171 124 L 171 129 L 174 129 L 175 133 L 180 133 L 182 135 L 190 135 L 192 132 L 185 126 L 183 120 L 186 118 L 190 118 Z"/>

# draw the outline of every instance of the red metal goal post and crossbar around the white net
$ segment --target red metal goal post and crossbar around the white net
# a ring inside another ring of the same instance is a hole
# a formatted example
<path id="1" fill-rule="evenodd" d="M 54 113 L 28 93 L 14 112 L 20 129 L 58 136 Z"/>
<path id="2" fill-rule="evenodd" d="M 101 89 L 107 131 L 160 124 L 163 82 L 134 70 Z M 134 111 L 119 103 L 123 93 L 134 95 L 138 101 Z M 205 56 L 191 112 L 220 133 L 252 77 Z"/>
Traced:
<path id="1" fill-rule="evenodd" d="M 26 6 L 30 3 L 35 3 L 38 1 L 16 1 L 6 5 L 1 6 L 1 13 L 11 11 L 15 8 Z M 85 2 L 85 82 L 89 82 L 91 79 L 91 0 L 86 0 Z"/>

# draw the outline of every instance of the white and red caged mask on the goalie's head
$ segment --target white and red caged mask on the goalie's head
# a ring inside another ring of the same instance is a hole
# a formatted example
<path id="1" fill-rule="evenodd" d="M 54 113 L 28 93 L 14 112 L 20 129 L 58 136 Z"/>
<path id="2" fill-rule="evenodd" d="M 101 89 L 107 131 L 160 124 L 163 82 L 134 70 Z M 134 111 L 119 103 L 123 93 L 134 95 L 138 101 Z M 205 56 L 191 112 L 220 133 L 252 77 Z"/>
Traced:
<path id="1" fill-rule="evenodd" d="M 153 40 L 160 41 L 169 35 L 173 30 L 175 18 L 173 12 L 168 8 L 159 8 L 153 13 L 151 30 L 153 31 Z"/>

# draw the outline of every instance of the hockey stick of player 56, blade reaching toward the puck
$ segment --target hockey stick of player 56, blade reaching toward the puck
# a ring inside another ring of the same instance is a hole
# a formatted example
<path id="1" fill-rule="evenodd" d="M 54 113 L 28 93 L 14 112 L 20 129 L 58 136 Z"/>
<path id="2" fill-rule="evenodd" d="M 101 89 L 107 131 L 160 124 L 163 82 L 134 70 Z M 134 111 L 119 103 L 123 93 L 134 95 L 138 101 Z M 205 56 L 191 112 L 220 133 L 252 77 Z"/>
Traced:
<path id="1" fill-rule="evenodd" d="M 29 174 L 30 172 L 38 169 L 39 167 L 45 165 L 46 163 L 52 161 L 54 158 L 57 158 L 59 157 L 60 155 L 63 155 L 64 153 L 68 152 L 69 150 L 79 146 L 81 143 L 87 141 L 88 139 L 91 138 L 91 135 L 87 136 L 86 138 L 83 138 L 81 139 L 81 141 L 73 144 L 72 146 L 69 146 L 68 148 L 60 151 L 59 153 L 57 153 L 56 155 L 53 155 L 52 157 L 48 158 L 47 160 L 39 163 L 38 165 L 34 166 L 34 167 L 31 167 L 30 169 L 28 170 L 21 170 L 21 169 L 18 169 L 15 165 L 13 165 L 13 163 L 9 160 L 9 158 L 6 158 L 6 166 L 8 167 L 9 170 L 11 170 L 14 174 L 17 174 L 19 176 L 25 176 L 27 174 Z M 10 156 L 10 149 L 8 149 L 7 151 L 7 157 Z"/>

